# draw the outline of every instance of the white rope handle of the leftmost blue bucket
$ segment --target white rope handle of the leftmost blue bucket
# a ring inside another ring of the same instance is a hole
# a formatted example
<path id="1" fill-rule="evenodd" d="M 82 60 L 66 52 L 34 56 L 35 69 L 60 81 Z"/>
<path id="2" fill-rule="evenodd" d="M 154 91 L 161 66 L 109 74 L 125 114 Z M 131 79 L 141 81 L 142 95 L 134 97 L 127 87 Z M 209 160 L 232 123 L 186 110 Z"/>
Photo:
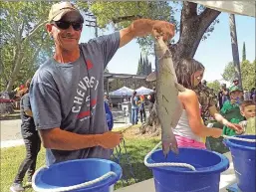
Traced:
<path id="1" fill-rule="evenodd" d="M 42 170 L 42 169 L 46 169 L 48 167 L 46 166 L 43 166 L 41 168 L 39 168 L 33 175 L 32 177 L 32 187 L 35 191 L 38 191 L 38 192 L 64 192 L 64 191 L 72 191 L 72 190 L 77 190 L 77 189 L 80 189 L 80 188 L 84 188 L 84 187 L 88 187 L 90 185 L 94 185 L 98 182 L 101 182 L 105 179 L 107 179 L 108 177 L 111 177 L 111 176 L 117 176 L 117 174 L 113 171 L 110 171 L 106 174 L 104 174 L 103 176 L 97 178 L 97 179 L 94 179 L 94 180 L 91 180 L 91 181 L 87 181 L 87 182 L 84 182 L 84 183 L 81 183 L 81 184 L 77 184 L 77 185 L 73 185 L 73 186 L 69 186 L 69 187 L 59 187 L 59 188 L 55 188 L 55 189 L 42 189 L 42 188 L 39 188 L 36 186 L 35 184 L 35 180 L 36 180 L 36 176 L 37 174 Z"/>

